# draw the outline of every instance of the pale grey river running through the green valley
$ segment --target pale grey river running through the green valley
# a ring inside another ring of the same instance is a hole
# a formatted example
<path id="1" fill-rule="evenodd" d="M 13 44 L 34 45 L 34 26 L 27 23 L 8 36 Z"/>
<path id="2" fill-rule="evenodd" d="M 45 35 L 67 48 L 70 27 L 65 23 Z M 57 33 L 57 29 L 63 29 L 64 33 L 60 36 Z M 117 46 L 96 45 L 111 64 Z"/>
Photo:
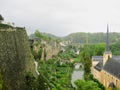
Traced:
<path id="1" fill-rule="evenodd" d="M 76 81 L 77 79 L 83 79 L 83 74 L 83 69 L 80 68 L 79 64 L 76 64 L 71 77 L 71 84 L 73 87 L 76 87 L 74 81 Z"/>

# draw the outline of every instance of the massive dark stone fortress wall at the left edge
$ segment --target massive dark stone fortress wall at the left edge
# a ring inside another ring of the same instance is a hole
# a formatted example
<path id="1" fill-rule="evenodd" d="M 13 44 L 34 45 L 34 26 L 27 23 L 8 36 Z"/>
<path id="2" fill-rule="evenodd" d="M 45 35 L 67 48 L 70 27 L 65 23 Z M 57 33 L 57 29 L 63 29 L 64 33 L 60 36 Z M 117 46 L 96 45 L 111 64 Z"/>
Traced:
<path id="1" fill-rule="evenodd" d="M 34 72 L 25 29 L 0 29 L 0 73 L 3 90 L 24 90 L 25 73 Z"/>

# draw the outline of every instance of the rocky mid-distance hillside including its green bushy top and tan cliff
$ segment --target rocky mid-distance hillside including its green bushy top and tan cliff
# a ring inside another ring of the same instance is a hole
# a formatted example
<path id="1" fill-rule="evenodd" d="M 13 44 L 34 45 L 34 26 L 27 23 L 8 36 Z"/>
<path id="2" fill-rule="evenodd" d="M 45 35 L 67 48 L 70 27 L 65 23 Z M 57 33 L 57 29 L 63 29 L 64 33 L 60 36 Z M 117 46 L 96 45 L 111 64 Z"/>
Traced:
<path id="1" fill-rule="evenodd" d="M 36 31 L 29 38 L 34 40 L 33 55 L 35 58 L 39 57 L 41 60 L 49 60 L 61 50 L 60 40 L 54 35 Z M 36 56 L 36 54 L 39 54 L 39 56 Z"/>

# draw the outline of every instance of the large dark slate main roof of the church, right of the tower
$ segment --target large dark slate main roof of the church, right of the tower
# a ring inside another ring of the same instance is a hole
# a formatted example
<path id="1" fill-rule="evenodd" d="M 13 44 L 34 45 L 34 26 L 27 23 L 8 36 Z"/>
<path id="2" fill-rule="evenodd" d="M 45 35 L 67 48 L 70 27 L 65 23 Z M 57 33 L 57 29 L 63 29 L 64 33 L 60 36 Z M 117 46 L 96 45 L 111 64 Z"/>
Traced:
<path id="1" fill-rule="evenodd" d="M 113 76 L 120 79 L 120 59 L 119 57 L 110 58 L 106 64 L 104 65 L 103 69 Z"/>

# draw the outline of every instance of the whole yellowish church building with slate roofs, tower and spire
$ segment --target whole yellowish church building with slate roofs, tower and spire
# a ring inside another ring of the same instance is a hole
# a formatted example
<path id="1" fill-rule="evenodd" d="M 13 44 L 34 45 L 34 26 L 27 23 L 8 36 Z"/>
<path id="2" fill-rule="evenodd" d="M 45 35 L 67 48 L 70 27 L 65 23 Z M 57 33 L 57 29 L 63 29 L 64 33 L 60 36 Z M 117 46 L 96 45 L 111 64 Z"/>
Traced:
<path id="1" fill-rule="evenodd" d="M 92 57 L 92 73 L 106 88 L 120 88 L 120 56 L 113 56 L 109 47 L 109 29 L 107 26 L 106 51 L 103 56 Z"/>

